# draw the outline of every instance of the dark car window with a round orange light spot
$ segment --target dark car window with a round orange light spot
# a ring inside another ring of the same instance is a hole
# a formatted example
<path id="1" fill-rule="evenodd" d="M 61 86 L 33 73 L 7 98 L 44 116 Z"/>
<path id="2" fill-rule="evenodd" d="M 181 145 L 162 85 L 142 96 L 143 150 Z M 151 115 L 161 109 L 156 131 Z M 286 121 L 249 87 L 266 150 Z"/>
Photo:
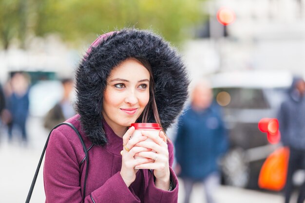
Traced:
<path id="1" fill-rule="evenodd" d="M 261 89 L 216 88 L 216 101 L 230 109 L 268 109 L 270 105 Z"/>

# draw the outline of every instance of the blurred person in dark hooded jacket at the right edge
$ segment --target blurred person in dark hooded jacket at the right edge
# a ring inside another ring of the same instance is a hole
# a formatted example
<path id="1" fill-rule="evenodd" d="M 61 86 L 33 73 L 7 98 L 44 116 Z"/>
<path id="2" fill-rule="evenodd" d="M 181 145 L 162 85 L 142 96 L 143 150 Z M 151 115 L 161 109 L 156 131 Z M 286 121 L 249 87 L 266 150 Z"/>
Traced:
<path id="1" fill-rule="evenodd" d="M 278 113 L 281 141 L 289 147 L 289 163 L 285 185 L 285 203 L 293 191 L 292 177 L 296 170 L 305 169 L 305 82 L 294 77 L 286 100 Z M 305 182 L 300 186 L 297 203 L 305 200 Z"/>

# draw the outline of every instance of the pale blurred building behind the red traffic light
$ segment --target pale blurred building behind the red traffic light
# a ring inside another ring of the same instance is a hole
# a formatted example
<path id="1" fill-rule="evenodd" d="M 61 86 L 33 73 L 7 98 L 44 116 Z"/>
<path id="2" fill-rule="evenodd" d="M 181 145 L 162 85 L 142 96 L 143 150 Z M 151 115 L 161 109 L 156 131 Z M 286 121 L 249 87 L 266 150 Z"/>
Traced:
<path id="1" fill-rule="evenodd" d="M 235 13 L 226 32 L 216 20 L 221 7 Z M 232 70 L 305 74 L 305 0 L 208 0 L 203 8 L 210 20 L 197 30 L 202 38 L 185 45 L 191 77 Z"/>

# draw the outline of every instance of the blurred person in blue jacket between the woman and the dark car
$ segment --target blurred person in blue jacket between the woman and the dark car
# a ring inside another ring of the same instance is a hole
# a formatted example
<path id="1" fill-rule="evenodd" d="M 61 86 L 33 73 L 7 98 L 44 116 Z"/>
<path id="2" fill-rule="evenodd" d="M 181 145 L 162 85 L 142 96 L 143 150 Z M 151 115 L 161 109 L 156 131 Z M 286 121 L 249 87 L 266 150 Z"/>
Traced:
<path id="1" fill-rule="evenodd" d="M 220 184 L 218 160 L 227 150 L 227 134 L 220 107 L 212 101 L 209 83 L 193 89 L 191 106 L 179 118 L 175 152 L 179 176 L 184 184 L 184 203 L 189 203 L 195 183 L 204 186 L 207 203 Z"/>

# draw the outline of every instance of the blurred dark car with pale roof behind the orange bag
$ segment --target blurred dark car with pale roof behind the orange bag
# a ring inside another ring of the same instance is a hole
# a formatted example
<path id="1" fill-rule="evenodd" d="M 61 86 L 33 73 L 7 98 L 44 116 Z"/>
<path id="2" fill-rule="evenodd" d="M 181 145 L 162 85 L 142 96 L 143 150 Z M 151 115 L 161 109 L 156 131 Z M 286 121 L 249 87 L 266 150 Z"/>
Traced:
<path id="1" fill-rule="evenodd" d="M 211 77 L 216 101 L 223 106 L 230 148 L 221 161 L 227 185 L 257 189 L 259 171 L 278 146 L 258 129 L 262 118 L 274 118 L 292 82 L 287 72 L 247 71 Z"/>

